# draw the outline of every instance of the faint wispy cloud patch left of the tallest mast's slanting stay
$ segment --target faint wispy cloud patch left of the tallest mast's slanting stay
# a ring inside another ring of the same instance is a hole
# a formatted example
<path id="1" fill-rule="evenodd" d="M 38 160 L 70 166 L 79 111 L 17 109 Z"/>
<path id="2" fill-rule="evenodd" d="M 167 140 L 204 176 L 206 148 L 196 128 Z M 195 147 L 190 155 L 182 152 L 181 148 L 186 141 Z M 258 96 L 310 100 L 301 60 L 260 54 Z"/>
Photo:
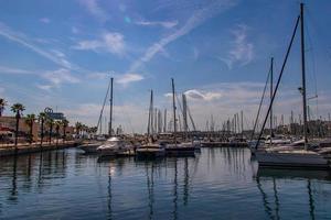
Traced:
<path id="1" fill-rule="evenodd" d="M 232 30 L 234 41 L 226 57 L 221 57 L 229 69 L 233 65 L 246 65 L 254 58 L 254 45 L 247 41 L 247 25 L 241 24 Z"/>

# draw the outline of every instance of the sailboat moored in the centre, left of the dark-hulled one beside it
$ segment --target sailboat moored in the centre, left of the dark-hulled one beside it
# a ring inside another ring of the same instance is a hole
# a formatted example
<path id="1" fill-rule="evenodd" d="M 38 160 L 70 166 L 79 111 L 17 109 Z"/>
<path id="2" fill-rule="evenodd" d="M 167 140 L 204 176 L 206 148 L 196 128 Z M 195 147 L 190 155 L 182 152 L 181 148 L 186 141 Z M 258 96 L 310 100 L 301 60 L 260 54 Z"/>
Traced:
<path id="1" fill-rule="evenodd" d="M 152 135 L 153 135 L 152 114 L 153 114 L 153 90 L 150 91 L 150 107 L 149 107 L 148 127 L 147 127 L 148 143 L 141 145 L 136 150 L 136 155 L 138 158 L 156 158 L 166 155 L 164 147 L 159 143 L 152 142 Z"/>

